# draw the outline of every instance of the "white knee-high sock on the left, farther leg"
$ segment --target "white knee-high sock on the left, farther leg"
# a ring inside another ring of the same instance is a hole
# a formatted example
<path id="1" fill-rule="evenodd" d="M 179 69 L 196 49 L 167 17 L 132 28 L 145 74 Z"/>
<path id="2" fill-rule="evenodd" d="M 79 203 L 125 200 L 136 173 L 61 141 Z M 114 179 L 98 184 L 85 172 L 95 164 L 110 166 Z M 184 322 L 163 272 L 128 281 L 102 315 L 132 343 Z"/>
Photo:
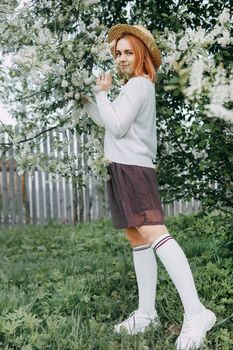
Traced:
<path id="1" fill-rule="evenodd" d="M 138 310 L 154 317 L 157 262 L 153 249 L 149 245 L 133 248 L 133 261 L 138 285 Z"/>

